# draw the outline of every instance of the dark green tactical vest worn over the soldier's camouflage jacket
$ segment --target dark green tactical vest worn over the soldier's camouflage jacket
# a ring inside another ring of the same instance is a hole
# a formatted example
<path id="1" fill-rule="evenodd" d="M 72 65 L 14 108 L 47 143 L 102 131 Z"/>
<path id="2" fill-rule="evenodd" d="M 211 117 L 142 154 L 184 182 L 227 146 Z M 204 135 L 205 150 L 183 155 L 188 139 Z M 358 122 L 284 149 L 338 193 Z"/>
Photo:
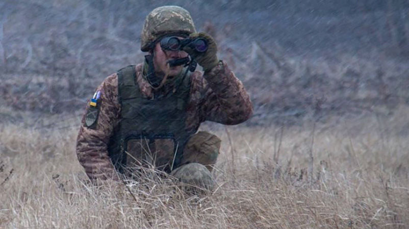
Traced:
<path id="1" fill-rule="evenodd" d="M 118 71 L 121 115 L 108 145 L 117 171 L 124 173 L 129 167 L 155 164 L 170 173 L 179 166 L 186 142 L 196 132 L 186 130 L 189 73 L 175 82 L 173 93 L 148 99 L 140 92 L 134 65 Z"/>

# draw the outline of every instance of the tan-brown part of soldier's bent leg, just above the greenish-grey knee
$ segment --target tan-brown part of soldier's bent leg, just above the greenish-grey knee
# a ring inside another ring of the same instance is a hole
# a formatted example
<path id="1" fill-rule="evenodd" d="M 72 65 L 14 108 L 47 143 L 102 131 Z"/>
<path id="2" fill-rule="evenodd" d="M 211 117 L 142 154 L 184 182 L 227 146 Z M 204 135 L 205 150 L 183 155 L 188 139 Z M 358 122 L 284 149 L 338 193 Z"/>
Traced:
<path id="1" fill-rule="evenodd" d="M 183 151 L 181 165 L 199 163 L 212 171 L 219 156 L 221 140 L 216 135 L 199 131 L 187 142 Z"/>

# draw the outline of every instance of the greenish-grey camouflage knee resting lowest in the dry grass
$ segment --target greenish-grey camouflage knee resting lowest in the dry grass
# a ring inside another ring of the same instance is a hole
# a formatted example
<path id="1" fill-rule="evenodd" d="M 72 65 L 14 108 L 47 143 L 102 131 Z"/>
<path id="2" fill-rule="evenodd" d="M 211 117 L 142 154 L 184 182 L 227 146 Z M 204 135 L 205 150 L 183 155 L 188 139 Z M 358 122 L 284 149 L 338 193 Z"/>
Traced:
<path id="1" fill-rule="evenodd" d="M 212 178 L 210 171 L 202 164 L 189 163 L 182 165 L 170 173 L 179 181 L 200 189 L 212 191 L 216 182 Z"/>

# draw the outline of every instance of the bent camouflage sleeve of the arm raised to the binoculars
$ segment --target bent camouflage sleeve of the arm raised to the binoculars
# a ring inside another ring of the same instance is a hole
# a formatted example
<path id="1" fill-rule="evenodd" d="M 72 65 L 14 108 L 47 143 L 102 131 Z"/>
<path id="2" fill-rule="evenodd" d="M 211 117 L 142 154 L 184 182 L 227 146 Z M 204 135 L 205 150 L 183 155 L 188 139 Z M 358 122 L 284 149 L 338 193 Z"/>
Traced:
<path id="1" fill-rule="evenodd" d="M 201 109 L 204 120 L 236 125 L 250 118 L 253 112 L 250 97 L 225 62 L 220 61 L 203 77 L 206 79 Z"/>

